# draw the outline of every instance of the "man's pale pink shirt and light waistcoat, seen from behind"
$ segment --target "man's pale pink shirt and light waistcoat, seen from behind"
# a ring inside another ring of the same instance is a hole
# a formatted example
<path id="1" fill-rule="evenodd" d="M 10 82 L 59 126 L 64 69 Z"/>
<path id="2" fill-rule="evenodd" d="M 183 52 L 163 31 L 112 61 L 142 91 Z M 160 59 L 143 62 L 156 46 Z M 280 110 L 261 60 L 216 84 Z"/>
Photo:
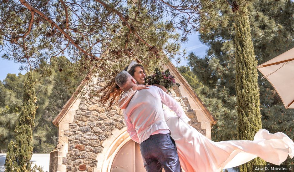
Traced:
<path id="1" fill-rule="evenodd" d="M 142 143 L 150 135 L 170 132 L 165 122 L 162 104 L 175 111 L 183 121 L 190 121 L 175 99 L 156 86 L 148 88 L 138 90 L 127 108 L 123 110 L 127 132 L 137 143 Z"/>

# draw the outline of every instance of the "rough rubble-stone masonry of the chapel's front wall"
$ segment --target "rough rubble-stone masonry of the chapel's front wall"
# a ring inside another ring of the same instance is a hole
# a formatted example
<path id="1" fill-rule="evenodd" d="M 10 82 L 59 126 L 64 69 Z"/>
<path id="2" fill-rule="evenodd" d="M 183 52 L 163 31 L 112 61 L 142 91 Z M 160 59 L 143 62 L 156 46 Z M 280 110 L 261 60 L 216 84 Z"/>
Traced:
<path id="1" fill-rule="evenodd" d="M 91 89 L 98 90 L 105 82 L 93 84 Z M 201 129 L 193 109 L 190 108 L 186 98 L 181 97 L 179 89 L 175 89 L 171 95 L 182 105 L 185 113 L 191 119 L 191 125 L 200 133 L 206 135 L 206 130 Z M 122 111 L 113 106 L 107 112 L 97 102 L 99 98 L 93 97 L 80 101 L 78 110 L 75 111 L 73 122 L 69 123 L 68 129 L 63 130 L 63 137 L 68 138 L 68 152 L 63 158 L 62 164 L 66 171 L 93 172 L 96 165 L 97 154 L 103 150 L 103 142 L 112 135 L 114 129 L 124 127 Z"/>

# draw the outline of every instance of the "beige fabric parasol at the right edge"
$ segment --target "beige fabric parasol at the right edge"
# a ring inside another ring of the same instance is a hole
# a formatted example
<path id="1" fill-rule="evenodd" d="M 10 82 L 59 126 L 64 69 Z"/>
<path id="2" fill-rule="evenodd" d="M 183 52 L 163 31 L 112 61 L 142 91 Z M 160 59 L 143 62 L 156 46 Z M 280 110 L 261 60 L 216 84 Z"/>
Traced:
<path id="1" fill-rule="evenodd" d="M 276 89 L 285 108 L 294 108 L 294 48 L 257 68 Z"/>

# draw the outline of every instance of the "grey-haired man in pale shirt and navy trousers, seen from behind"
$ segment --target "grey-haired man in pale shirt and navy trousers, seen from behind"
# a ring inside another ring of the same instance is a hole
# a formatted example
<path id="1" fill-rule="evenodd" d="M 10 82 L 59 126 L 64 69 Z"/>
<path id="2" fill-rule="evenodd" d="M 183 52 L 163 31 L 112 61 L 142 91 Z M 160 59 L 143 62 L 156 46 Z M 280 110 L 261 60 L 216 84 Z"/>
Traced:
<path id="1" fill-rule="evenodd" d="M 116 84 L 128 91 L 137 83 L 126 71 L 117 74 Z M 162 89 L 151 86 L 138 90 L 124 109 L 127 131 L 132 140 L 140 144 L 140 150 L 147 172 L 181 172 L 175 142 L 164 119 L 162 103 L 175 111 L 184 121 L 190 120 L 182 107 Z"/>

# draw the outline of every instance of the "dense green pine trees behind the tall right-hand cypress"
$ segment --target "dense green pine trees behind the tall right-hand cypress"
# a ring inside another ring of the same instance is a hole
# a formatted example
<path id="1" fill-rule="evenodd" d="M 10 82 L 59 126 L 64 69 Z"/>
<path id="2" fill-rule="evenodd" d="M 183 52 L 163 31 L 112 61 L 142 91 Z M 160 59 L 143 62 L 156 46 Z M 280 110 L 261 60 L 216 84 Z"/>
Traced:
<path id="1" fill-rule="evenodd" d="M 248 5 L 251 38 L 258 64 L 264 63 L 294 47 L 293 15 L 291 0 L 261 0 Z M 230 16 L 228 26 L 215 28 L 209 34 L 200 34 L 200 40 L 209 49 L 207 55 L 189 55 L 191 71 L 202 84 L 195 85 L 196 93 L 217 119 L 212 128 L 215 141 L 237 139 L 236 111 L 236 57 L 234 12 L 223 8 L 220 15 Z M 284 132 L 294 138 L 294 109 L 285 109 L 278 94 L 259 74 L 262 128 L 270 133 Z M 192 84 L 192 83 L 190 83 Z M 286 161 L 291 163 L 293 160 Z"/>

